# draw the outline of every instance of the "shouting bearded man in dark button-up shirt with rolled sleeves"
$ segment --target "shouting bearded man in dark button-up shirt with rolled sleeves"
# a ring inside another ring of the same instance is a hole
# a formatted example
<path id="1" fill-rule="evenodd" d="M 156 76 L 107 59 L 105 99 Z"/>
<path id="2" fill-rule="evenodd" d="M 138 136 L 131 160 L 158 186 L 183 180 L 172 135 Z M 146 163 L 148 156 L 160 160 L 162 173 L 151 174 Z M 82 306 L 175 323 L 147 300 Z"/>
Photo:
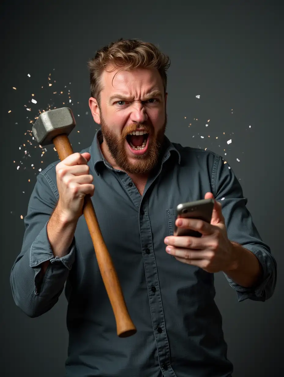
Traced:
<path id="1" fill-rule="evenodd" d="M 98 51 L 89 107 L 101 129 L 90 148 L 43 170 L 31 195 L 12 293 L 36 317 L 66 282 L 68 377 L 231 376 L 213 273 L 224 272 L 239 301 L 264 301 L 275 289 L 275 259 L 232 169 L 164 135 L 168 67 L 168 57 L 139 40 Z M 87 194 L 137 328 L 124 339 L 81 216 Z M 211 224 L 176 221 L 202 237 L 173 236 L 177 205 L 208 198 Z"/>

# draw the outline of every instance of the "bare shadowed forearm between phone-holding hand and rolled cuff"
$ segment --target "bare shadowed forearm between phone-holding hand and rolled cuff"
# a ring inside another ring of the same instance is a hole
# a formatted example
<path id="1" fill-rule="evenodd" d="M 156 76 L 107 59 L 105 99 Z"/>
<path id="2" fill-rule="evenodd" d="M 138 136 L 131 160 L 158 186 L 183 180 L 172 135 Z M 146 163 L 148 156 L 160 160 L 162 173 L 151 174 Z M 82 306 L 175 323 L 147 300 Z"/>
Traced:
<path id="1" fill-rule="evenodd" d="M 224 271 L 234 282 L 242 287 L 253 287 L 258 284 L 263 268 L 258 258 L 249 250 L 232 242 L 232 268 Z"/>

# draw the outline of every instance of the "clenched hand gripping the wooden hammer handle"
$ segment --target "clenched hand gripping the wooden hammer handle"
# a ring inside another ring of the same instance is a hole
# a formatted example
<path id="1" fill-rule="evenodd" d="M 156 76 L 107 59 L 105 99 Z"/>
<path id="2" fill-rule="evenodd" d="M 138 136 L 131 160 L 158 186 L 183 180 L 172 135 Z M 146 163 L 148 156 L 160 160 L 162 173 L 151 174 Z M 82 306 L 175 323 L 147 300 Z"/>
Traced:
<path id="1" fill-rule="evenodd" d="M 87 165 L 90 153 L 73 153 L 56 166 L 59 200 L 57 211 L 65 221 L 77 221 L 83 214 L 85 195 L 94 195 L 94 177 L 89 174 Z"/>

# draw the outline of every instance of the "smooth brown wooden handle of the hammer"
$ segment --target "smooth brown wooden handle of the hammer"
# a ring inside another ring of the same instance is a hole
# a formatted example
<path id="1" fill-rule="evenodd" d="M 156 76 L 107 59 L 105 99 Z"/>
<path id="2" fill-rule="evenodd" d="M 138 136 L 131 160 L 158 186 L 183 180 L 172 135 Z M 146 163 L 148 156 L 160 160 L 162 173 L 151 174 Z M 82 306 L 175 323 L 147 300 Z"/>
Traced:
<path id="1" fill-rule="evenodd" d="M 53 139 L 53 143 L 61 161 L 74 153 L 66 134 L 56 136 Z M 89 195 L 86 195 L 85 197 L 83 213 L 95 248 L 95 254 L 98 261 L 98 267 L 100 268 L 101 277 L 103 279 L 104 286 L 106 287 L 112 310 L 114 311 L 115 321 L 117 324 L 117 335 L 119 337 L 131 336 L 136 333 L 136 328 L 127 311 L 117 273 L 115 271 L 111 256 L 107 251 L 106 244 L 104 243 L 94 206 Z"/>

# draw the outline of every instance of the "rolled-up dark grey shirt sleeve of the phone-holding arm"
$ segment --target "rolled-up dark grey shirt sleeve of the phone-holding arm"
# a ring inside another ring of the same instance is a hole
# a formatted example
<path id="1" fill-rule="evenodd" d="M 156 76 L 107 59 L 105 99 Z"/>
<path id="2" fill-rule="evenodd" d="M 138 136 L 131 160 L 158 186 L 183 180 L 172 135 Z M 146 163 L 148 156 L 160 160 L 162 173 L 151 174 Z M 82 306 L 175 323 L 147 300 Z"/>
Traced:
<path id="1" fill-rule="evenodd" d="M 269 299 L 277 280 L 277 264 L 270 247 L 263 242 L 252 215 L 246 207 L 247 198 L 229 164 L 224 164 L 221 156 L 217 156 L 212 171 L 214 197 L 222 204 L 227 234 L 230 241 L 237 242 L 251 251 L 263 269 L 262 278 L 255 287 L 242 287 L 226 276 L 230 286 L 235 289 L 238 301 L 251 299 L 265 301 Z"/>

